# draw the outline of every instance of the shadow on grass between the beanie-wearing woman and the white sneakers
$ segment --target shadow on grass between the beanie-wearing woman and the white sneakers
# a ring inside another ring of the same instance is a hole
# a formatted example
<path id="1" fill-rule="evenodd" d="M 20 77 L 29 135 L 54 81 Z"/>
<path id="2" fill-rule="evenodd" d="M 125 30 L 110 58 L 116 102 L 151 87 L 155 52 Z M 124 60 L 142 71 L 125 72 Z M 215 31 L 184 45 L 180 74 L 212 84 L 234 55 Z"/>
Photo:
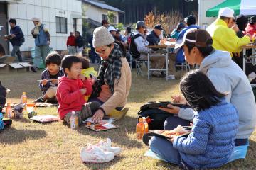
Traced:
<path id="1" fill-rule="evenodd" d="M 112 129 L 112 130 L 105 130 L 100 132 L 95 132 L 83 126 L 82 128 L 78 129 L 82 135 L 91 135 L 93 137 L 100 137 L 102 140 L 109 137 L 112 142 L 117 143 L 118 145 L 124 145 L 125 147 L 142 147 L 142 143 L 137 140 L 132 140 L 129 137 L 129 134 L 135 132 L 137 120 L 136 118 L 132 118 L 129 116 L 125 116 L 122 120 L 117 120 L 115 125 L 119 125 L 119 128 Z"/>

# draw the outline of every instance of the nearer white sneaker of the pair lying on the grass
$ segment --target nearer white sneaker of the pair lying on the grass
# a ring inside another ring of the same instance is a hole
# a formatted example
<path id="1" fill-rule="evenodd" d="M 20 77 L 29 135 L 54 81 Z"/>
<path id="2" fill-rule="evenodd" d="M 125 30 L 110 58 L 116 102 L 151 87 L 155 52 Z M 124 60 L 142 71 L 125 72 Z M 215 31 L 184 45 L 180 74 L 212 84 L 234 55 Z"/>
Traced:
<path id="1" fill-rule="evenodd" d="M 114 159 L 114 153 L 105 152 L 100 147 L 90 146 L 81 149 L 80 158 L 84 163 L 105 163 Z"/>

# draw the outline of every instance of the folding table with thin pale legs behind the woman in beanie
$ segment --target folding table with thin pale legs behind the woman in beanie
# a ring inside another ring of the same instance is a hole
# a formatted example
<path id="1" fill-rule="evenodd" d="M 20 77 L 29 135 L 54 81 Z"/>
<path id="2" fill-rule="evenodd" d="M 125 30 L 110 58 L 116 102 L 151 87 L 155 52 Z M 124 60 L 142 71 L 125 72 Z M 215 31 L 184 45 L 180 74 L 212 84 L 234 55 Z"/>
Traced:
<path id="1" fill-rule="evenodd" d="M 149 49 L 166 49 L 165 54 L 159 54 L 159 53 L 151 53 L 151 50 L 148 52 L 148 79 L 150 79 L 150 71 L 166 71 L 166 80 L 168 80 L 168 54 L 169 49 L 174 48 L 175 45 L 149 45 L 147 46 Z M 150 57 L 166 57 L 166 69 L 150 69 Z"/>

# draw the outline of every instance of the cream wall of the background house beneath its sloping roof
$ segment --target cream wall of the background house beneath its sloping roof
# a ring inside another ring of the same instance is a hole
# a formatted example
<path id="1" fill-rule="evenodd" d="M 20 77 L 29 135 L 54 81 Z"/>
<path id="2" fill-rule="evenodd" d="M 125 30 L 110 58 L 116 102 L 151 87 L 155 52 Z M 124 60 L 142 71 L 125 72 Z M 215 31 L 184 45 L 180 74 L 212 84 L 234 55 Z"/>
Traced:
<path id="1" fill-rule="evenodd" d="M 97 8 L 96 6 L 92 6 L 90 4 L 82 3 L 83 8 L 85 8 L 85 14 L 83 13 L 83 16 L 90 18 L 94 21 L 97 21 L 101 23 L 102 21 L 102 14 L 107 15 L 107 12 L 109 10 L 102 9 L 102 8 Z M 117 23 L 119 23 L 119 18 L 118 18 L 118 12 L 113 11 L 114 16 L 117 17 Z"/>

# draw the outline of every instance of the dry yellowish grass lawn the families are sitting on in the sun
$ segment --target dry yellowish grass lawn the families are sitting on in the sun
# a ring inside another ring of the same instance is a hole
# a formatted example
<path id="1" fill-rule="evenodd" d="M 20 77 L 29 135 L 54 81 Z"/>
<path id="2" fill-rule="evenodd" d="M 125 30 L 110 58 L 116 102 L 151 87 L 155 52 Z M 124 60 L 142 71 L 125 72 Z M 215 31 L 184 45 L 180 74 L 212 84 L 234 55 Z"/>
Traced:
<path id="1" fill-rule="evenodd" d="M 120 128 L 105 132 L 94 132 L 85 127 L 71 130 L 61 122 L 40 124 L 28 120 L 14 120 L 11 128 L 0 132 L 0 169 L 178 169 L 156 159 L 144 157 L 148 149 L 141 140 L 137 140 L 136 117 L 146 101 L 169 101 L 170 96 L 178 94 L 178 81 L 166 81 L 161 78 L 147 80 L 146 77 L 132 73 L 132 88 L 127 107 L 129 112 L 123 120 L 116 122 Z M 28 101 L 41 95 L 36 80 L 40 73 L 31 72 L 9 74 L 0 73 L 4 86 L 11 89 L 8 101 L 17 103 L 23 91 Z M 58 115 L 57 108 L 36 108 L 39 115 Z M 112 139 L 112 145 L 122 147 L 122 152 L 112 162 L 105 164 L 82 164 L 80 149 L 88 143 Z M 256 169 L 256 133 L 250 137 L 250 147 L 246 159 L 223 166 L 222 169 Z"/>

